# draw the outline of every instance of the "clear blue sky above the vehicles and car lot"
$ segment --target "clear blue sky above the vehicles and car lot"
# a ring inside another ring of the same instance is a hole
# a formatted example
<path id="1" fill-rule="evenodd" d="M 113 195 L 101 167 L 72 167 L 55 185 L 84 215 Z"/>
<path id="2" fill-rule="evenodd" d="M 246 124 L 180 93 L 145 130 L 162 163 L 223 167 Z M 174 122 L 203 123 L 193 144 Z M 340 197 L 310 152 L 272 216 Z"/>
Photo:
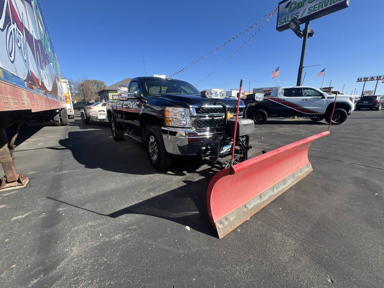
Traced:
<path id="1" fill-rule="evenodd" d="M 87 76 L 113 84 L 146 73 L 173 74 L 264 17 L 277 6 L 270 1 L 126 1 L 40 0 L 66 78 Z M 65 5 L 63 5 L 65 3 Z M 308 40 L 304 85 L 320 87 L 316 77 L 327 66 L 324 86 L 344 93 L 358 77 L 384 75 L 382 0 L 351 0 L 350 7 L 313 20 Z M 280 86 L 294 86 L 302 40 L 291 30 L 276 31 L 276 17 L 197 89 L 275 86 L 272 71 L 281 64 Z M 303 28 L 302 25 L 301 28 Z M 175 78 L 193 85 L 212 72 L 256 30 L 215 51 Z M 364 90 L 373 90 L 376 81 Z M 244 90 L 243 89 L 243 90 Z M 376 94 L 384 94 L 379 81 Z"/>

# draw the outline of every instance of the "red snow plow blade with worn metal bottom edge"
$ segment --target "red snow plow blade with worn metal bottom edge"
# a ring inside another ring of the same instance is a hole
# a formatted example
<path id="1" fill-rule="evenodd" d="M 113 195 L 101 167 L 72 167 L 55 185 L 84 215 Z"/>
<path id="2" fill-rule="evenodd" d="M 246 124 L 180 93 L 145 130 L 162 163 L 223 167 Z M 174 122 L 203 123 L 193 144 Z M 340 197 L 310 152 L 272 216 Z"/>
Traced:
<path id="1" fill-rule="evenodd" d="M 308 149 L 325 131 L 217 172 L 209 183 L 210 220 L 222 238 L 312 172 Z"/>

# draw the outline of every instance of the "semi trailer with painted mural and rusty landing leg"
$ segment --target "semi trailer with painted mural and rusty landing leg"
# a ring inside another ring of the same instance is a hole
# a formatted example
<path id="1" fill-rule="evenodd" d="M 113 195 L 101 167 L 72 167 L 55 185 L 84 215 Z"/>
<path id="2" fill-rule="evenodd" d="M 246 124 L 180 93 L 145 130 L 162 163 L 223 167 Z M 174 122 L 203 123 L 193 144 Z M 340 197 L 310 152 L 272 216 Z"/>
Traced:
<path id="1" fill-rule="evenodd" d="M 23 186 L 13 150 L 29 119 L 68 125 L 59 61 L 39 0 L 0 0 L 0 189 Z M 14 126 L 8 141 L 5 129 Z"/>

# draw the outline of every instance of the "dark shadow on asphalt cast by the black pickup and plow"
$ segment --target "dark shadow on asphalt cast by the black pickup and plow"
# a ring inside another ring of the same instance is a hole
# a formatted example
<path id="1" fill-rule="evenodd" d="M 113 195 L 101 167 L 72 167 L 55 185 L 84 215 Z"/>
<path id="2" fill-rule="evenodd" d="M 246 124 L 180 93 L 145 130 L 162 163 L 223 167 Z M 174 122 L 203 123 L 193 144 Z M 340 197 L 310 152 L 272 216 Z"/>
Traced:
<path id="1" fill-rule="evenodd" d="M 109 214 L 101 212 L 103 207 L 96 212 L 59 199 L 47 197 L 48 199 L 111 218 L 118 218 L 124 214 L 155 216 L 217 237 L 209 220 L 206 202 L 207 187 L 210 179 L 218 171 L 217 168 L 202 167 L 197 159 L 190 159 L 187 164 L 185 159 L 175 159 L 170 169 L 157 171 L 151 166 L 146 150 L 138 142 L 132 139 L 114 141 L 109 129 L 97 125 L 84 125 L 81 121 L 76 124 L 79 124 L 81 129 L 70 131 L 68 138 L 60 140 L 59 144 L 64 147 L 61 149 L 69 149 L 74 159 L 85 168 L 100 168 L 131 175 L 165 174 L 167 177 L 182 176 L 182 179 L 185 179 L 184 176 L 194 174 L 202 178 L 196 181 L 180 179 L 180 187 Z"/>

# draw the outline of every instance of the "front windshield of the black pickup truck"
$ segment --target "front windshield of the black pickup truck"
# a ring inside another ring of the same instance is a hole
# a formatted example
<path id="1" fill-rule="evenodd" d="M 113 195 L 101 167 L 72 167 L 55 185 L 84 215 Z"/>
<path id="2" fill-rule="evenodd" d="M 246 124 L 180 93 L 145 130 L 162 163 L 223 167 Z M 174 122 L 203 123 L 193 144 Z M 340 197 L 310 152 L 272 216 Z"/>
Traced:
<path id="1" fill-rule="evenodd" d="M 150 96 L 157 94 L 200 95 L 199 90 L 185 81 L 145 78 L 143 79 L 143 83 Z"/>

